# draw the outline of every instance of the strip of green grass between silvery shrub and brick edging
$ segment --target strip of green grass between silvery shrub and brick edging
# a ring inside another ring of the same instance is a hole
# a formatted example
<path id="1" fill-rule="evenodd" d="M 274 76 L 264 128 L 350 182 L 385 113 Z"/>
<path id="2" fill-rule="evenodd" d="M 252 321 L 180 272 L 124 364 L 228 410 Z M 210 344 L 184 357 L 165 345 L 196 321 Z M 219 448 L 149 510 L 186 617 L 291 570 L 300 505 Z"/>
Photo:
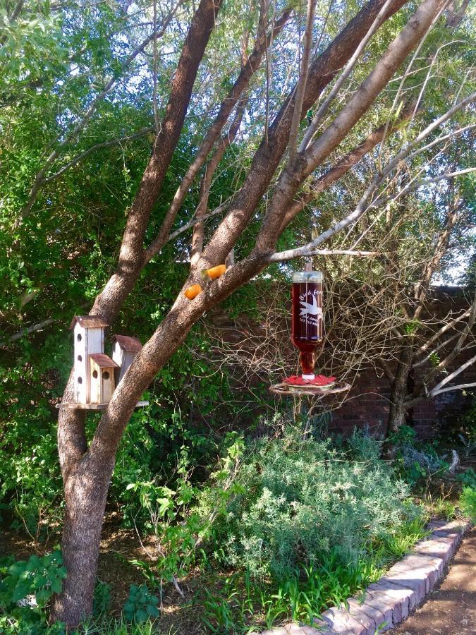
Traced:
<path id="1" fill-rule="evenodd" d="M 279 584 L 253 579 L 249 571 L 237 571 L 222 580 L 218 591 L 205 589 L 205 596 L 195 598 L 194 605 L 200 607 L 207 631 L 214 634 L 246 634 L 286 619 L 312 624 L 321 612 L 344 604 L 378 580 L 389 564 L 428 534 L 424 526 L 424 518 L 413 519 L 398 531 L 373 540 L 357 564 L 346 562 L 340 550 L 331 550 L 321 555 L 320 562 L 296 569 Z"/>

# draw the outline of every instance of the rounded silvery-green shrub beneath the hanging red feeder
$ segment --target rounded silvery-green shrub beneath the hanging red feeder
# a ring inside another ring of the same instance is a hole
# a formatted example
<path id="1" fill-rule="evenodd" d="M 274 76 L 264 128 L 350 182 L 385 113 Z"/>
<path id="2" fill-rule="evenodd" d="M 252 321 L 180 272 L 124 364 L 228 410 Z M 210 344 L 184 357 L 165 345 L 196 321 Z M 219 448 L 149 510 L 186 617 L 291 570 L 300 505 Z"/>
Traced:
<path id="1" fill-rule="evenodd" d="M 389 528 L 419 514 L 378 452 L 378 442 L 357 434 L 341 451 L 294 433 L 252 444 L 239 477 L 245 492 L 216 528 L 224 562 L 275 579 L 319 564 L 335 548 L 356 564 Z"/>

